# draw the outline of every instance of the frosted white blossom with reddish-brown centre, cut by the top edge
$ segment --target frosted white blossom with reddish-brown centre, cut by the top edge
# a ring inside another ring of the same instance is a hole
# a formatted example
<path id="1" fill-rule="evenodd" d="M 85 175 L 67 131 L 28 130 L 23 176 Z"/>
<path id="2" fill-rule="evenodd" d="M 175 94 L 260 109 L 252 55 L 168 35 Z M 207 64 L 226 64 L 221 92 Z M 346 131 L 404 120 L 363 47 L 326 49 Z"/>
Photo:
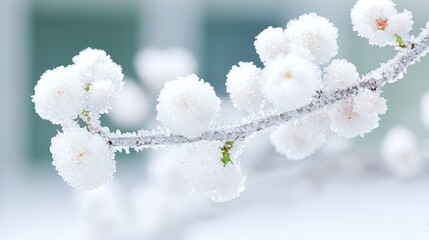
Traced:
<path id="1" fill-rule="evenodd" d="M 351 11 L 353 30 L 369 44 L 384 47 L 397 37 L 408 38 L 413 28 L 411 12 L 398 13 L 391 0 L 359 0 Z M 402 40 L 401 40 L 402 41 Z"/>

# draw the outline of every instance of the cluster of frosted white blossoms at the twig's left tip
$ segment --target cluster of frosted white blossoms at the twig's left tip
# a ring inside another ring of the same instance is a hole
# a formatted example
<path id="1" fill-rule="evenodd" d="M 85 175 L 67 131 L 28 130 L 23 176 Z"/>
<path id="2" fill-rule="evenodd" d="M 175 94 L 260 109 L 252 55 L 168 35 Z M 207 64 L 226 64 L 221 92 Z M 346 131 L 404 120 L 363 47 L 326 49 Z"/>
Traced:
<path id="1" fill-rule="evenodd" d="M 52 164 L 76 189 L 94 189 L 116 171 L 114 151 L 97 131 L 123 86 L 122 68 L 103 50 L 87 48 L 73 64 L 46 71 L 34 88 L 36 112 L 63 131 L 52 138 Z M 88 124 L 81 128 L 77 119 Z M 91 130 L 89 132 L 88 130 Z"/>

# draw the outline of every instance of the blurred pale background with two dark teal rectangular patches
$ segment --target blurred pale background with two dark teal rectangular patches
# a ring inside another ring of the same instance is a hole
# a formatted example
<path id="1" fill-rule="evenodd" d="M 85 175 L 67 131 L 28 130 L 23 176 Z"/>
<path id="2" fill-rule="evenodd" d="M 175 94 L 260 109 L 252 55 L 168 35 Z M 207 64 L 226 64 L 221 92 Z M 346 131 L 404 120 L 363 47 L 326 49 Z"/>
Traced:
<path id="1" fill-rule="evenodd" d="M 413 33 L 418 34 L 429 20 L 429 2 L 395 2 L 399 11 L 413 13 Z M 31 102 L 44 71 L 71 64 L 87 47 L 99 48 L 123 67 L 128 85 L 139 89 L 133 96 L 142 102 L 133 107 L 143 111 L 128 125 L 114 117 L 103 117 L 103 123 L 112 130 L 155 128 L 159 88 L 142 79 L 147 65 L 139 64 L 141 49 L 158 61 L 169 59 L 165 52 L 172 47 L 186 51 L 183 58 L 192 59 L 183 68 L 195 71 L 225 98 L 225 75 L 232 65 L 253 61 L 262 66 L 253 47 L 255 36 L 309 12 L 339 28 L 337 57 L 364 74 L 395 52 L 357 37 L 349 16 L 354 3 L 1 0 L 0 239 L 428 239 L 424 152 L 429 130 L 422 124 L 420 105 L 429 90 L 428 58 L 384 88 L 389 110 L 365 138 L 332 137 L 314 156 L 291 162 L 275 153 L 266 134 L 256 136 L 241 157 L 247 189 L 225 204 L 183 188 L 177 149 L 117 154 L 114 183 L 92 193 L 76 192 L 51 165 L 50 139 L 58 128 L 43 121 Z M 151 55 L 148 49 L 158 52 Z M 226 99 L 221 122 L 240 117 L 230 105 Z M 423 159 L 406 178 L 389 171 L 380 157 L 380 144 L 396 125 L 415 134 Z"/>

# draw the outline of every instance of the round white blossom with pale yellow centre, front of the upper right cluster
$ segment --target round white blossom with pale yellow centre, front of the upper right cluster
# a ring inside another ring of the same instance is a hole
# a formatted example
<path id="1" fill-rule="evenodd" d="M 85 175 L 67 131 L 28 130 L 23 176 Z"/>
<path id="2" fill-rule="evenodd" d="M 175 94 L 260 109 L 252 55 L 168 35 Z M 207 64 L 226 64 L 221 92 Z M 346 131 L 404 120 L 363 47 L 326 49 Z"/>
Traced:
<path id="1" fill-rule="evenodd" d="M 310 103 L 320 85 L 319 68 L 297 55 L 279 57 L 262 71 L 261 90 L 265 98 L 286 110 Z"/>

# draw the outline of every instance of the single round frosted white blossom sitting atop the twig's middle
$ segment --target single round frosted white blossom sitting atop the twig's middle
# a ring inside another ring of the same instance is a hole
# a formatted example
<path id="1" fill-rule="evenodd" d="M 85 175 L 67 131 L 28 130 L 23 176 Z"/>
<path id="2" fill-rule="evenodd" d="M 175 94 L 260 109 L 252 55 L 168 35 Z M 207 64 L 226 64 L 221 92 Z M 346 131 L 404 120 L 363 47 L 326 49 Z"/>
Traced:
<path id="1" fill-rule="evenodd" d="M 210 127 L 220 110 L 220 99 L 209 83 L 188 75 L 165 83 L 156 109 L 157 120 L 172 133 L 193 138 Z"/>

